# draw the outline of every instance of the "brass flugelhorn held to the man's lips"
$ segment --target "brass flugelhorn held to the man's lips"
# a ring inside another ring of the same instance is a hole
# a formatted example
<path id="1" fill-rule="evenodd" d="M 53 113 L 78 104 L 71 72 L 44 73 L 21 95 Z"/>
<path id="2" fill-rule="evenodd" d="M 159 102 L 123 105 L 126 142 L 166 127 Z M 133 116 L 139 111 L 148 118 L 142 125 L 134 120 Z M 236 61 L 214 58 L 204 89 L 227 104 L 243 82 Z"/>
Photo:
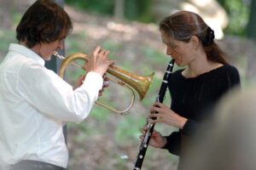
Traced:
<path id="1" fill-rule="evenodd" d="M 89 59 L 88 55 L 82 54 L 82 53 L 72 54 L 72 55 L 67 56 L 67 58 L 63 57 L 62 55 L 58 54 L 57 52 L 55 52 L 54 55 L 56 57 L 58 57 L 59 59 L 63 59 L 63 61 L 61 63 L 61 68 L 59 71 L 59 76 L 61 78 L 64 78 L 64 74 L 65 74 L 67 65 L 69 65 L 69 64 L 75 65 L 84 70 L 84 65 L 79 65 L 79 64 L 75 63 L 74 62 L 75 59 L 82 59 L 82 60 L 84 60 L 84 62 L 86 62 Z M 109 77 L 108 74 L 112 75 L 113 77 L 116 77 L 116 78 Z M 149 88 L 149 86 L 153 80 L 153 77 L 154 77 L 154 72 L 152 72 L 150 75 L 148 75 L 148 77 L 142 77 L 142 76 L 132 74 L 129 71 L 122 70 L 115 65 L 110 65 L 107 70 L 107 77 L 109 78 L 110 81 L 113 81 L 115 83 L 118 83 L 122 87 L 130 89 L 131 102 L 127 106 L 127 108 L 125 108 L 123 111 L 114 109 L 113 107 L 110 107 L 100 101 L 96 101 L 96 104 L 101 105 L 102 107 L 104 107 L 110 111 L 113 111 L 114 113 L 119 113 L 120 115 L 126 115 L 128 113 L 127 111 L 129 111 L 131 109 L 131 106 L 133 105 L 134 100 L 135 100 L 135 93 L 134 93 L 133 89 L 135 89 L 137 91 L 137 94 L 140 96 L 140 99 L 142 100 L 144 98 L 144 96 L 147 94 L 148 88 Z"/>

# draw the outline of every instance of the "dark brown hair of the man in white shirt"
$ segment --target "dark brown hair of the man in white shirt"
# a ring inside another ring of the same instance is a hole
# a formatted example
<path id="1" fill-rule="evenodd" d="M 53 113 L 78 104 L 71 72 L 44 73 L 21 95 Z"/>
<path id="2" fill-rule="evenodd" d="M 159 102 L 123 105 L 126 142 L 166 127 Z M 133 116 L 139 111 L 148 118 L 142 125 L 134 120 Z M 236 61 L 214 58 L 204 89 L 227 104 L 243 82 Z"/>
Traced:
<path id="1" fill-rule="evenodd" d="M 16 38 L 32 48 L 38 42 L 55 42 L 72 29 L 72 21 L 63 8 L 51 0 L 38 0 L 22 16 Z"/>

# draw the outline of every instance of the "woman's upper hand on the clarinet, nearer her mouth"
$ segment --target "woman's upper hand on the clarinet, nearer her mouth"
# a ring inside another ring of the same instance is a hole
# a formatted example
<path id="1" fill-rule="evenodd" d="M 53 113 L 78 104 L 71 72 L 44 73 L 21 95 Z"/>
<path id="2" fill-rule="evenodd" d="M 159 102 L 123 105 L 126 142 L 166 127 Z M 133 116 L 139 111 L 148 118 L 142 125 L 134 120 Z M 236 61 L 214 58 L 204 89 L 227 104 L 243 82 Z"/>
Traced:
<path id="1" fill-rule="evenodd" d="M 188 121 L 187 118 L 177 115 L 177 113 L 169 109 L 169 107 L 159 102 L 154 103 L 150 112 L 158 112 L 155 114 L 149 114 L 149 118 L 151 118 L 149 119 L 150 123 L 163 122 L 172 127 L 183 129 L 184 124 Z M 156 119 L 153 120 L 152 118 Z"/>

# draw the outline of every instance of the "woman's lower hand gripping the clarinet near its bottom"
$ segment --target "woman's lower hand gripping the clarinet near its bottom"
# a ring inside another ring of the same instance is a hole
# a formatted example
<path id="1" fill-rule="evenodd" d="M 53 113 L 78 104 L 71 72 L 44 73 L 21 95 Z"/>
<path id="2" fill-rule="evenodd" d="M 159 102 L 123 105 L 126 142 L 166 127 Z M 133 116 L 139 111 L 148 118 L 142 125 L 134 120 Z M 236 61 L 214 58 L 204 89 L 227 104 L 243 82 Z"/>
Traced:
<path id="1" fill-rule="evenodd" d="M 143 127 L 141 132 L 143 135 L 140 136 L 140 139 L 144 139 L 144 136 L 147 131 L 147 126 Z M 167 139 L 161 135 L 158 131 L 154 130 L 151 134 L 151 138 L 149 140 L 149 145 L 155 147 L 155 148 L 162 148 L 164 145 L 166 145 Z"/>

